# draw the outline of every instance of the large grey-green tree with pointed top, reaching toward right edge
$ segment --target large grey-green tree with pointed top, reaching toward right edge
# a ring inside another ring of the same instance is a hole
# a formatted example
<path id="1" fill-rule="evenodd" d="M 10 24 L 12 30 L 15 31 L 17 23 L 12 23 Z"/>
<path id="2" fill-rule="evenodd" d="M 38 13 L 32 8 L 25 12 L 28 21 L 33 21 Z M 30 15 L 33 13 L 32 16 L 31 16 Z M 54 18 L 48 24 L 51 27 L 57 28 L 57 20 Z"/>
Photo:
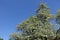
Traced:
<path id="1" fill-rule="evenodd" d="M 9 40 L 60 40 L 60 29 L 57 32 L 53 31 L 53 24 L 50 22 L 52 18 L 60 24 L 60 12 L 53 17 L 50 9 L 45 4 L 40 4 L 36 15 L 18 24 L 17 30 L 22 33 L 11 34 Z"/>

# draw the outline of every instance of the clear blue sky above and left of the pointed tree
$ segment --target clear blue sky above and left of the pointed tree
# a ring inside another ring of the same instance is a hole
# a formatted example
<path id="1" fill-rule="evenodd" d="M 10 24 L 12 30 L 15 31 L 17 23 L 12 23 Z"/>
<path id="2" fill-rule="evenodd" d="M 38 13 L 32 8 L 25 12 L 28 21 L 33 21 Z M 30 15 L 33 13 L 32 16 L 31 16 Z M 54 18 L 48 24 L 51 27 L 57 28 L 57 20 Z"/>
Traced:
<path id="1" fill-rule="evenodd" d="M 53 14 L 60 8 L 60 0 L 0 0 L 0 37 L 8 40 L 18 23 L 35 14 L 40 2 L 45 2 Z"/>

